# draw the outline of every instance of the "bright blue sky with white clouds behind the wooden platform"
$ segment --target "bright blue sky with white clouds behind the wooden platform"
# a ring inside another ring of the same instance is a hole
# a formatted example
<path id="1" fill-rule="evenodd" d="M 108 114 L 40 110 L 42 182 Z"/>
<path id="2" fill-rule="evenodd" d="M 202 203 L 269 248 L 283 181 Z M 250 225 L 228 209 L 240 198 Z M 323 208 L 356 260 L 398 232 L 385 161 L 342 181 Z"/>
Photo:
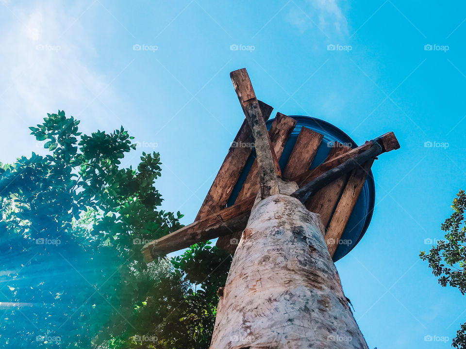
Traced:
<path id="1" fill-rule="evenodd" d="M 466 297 L 439 286 L 418 253 L 443 236 L 464 189 L 466 5 L 422 5 L 0 0 L 0 160 L 41 152 L 27 127 L 47 112 L 65 110 L 85 132 L 123 125 L 138 151 L 161 153 L 163 207 L 190 223 L 243 122 L 229 72 L 246 67 L 275 111 L 321 118 L 357 143 L 395 132 L 401 149 L 372 167 L 371 225 L 336 265 L 370 348 L 449 348 Z"/>

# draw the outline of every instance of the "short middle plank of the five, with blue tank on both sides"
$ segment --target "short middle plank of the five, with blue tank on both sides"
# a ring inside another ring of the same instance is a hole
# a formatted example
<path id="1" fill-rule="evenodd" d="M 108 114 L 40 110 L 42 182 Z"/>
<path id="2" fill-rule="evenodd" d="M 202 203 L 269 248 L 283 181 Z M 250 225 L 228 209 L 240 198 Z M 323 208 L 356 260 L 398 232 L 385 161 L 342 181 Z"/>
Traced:
<path id="1" fill-rule="evenodd" d="M 283 171 L 283 178 L 294 178 L 309 170 L 324 136 L 302 127 Z"/>

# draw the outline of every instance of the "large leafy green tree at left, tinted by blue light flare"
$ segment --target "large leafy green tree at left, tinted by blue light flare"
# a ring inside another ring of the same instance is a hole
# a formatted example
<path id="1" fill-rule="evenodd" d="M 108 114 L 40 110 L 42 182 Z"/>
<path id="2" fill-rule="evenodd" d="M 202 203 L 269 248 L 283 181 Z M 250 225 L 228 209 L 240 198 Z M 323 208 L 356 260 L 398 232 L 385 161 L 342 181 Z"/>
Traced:
<path id="1" fill-rule="evenodd" d="M 182 227 L 158 208 L 159 154 L 124 167 L 123 127 L 78 124 L 48 114 L 30 129 L 49 154 L 0 164 L 0 347 L 208 348 L 231 255 L 203 243 L 146 264 L 143 244 Z"/>

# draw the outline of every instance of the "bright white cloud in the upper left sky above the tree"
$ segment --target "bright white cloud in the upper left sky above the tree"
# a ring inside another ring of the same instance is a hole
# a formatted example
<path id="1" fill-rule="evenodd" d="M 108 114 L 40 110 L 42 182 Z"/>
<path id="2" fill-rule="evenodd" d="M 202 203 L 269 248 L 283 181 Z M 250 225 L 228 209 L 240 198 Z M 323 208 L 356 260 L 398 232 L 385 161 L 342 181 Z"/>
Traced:
<path id="1" fill-rule="evenodd" d="M 65 110 L 92 129 L 115 120 L 121 96 L 107 77 L 93 68 L 96 50 L 81 15 L 98 3 L 66 10 L 59 1 L 15 5 L 2 0 L 0 16 L 0 161 L 11 162 L 34 149 L 27 127 L 47 112 Z M 8 132 L 5 132 L 8 131 Z"/>

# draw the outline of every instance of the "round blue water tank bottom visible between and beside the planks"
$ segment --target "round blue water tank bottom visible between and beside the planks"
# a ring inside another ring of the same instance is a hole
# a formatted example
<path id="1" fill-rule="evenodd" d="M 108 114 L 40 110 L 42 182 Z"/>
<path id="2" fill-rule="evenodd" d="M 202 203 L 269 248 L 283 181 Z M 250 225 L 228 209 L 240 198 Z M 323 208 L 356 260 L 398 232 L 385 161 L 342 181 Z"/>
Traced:
<path id="1" fill-rule="evenodd" d="M 322 143 L 320 144 L 316 157 L 314 158 L 311 169 L 320 165 L 325 161 L 327 155 L 329 154 L 330 150 L 332 149 L 331 146 L 328 146 L 328 143 L 339 142 L 344 143 L 352 148 L 356 148 L 356 143 L 348 136 L 345 132 L 340 130 L 338 127 L 329 124 L 326 121 L 316 119 L 310 116 L 300 116 L 300 115 L 289 115 L 293 119 L 296 120 L 296 127 L 290 135 L 288 142 L 283 149 L 283 154 L 279 160 L 280 167 L 282 171 L 284 170 L 286 163 L 288 162 L 288 158 L 290 157 L 291 151 L 293 150 L 296 139 L 298 138 L 298 134 L 300 133 L 301 127 L 310 128 L 317 133 L 320 133 L 324 136 Z M 268 120 L 266 125 L 267 128 L 270 128 L 272 125 L 273 119 Z M 250 156 L 248 162 L 241 174 L 238 182 L 236 183 L 230 200 L 228 202 L 228 206 L 234 204 L 236 197 L 243 186 L 244 181 L 250 171 L 252 163 L 255 159 L 255 153 Z M 374 210 L 375 204 L 375 185 L 374 185 L 374 178 L 372 176 L 372 172 L 369 173 L 367 176 L 366 182 L 364 183 L 364 187 L 359 195 L 358 201 L 354 206 L 353 212 L 351 213 L 350 220 L 343 232 L 341 237 L 342 240 L 345 240 L 346 244 L 339 244 L 335 254 L 333 255 L 333 261 L 336 262 L 338 259 L 342 258 L 346 254 L 348 254 L 354 246 L 361 240 L 361 238 L 366 233 L 367 227 L 369 226 L 370 220 L 372 218 L 372 212 Z"/>

